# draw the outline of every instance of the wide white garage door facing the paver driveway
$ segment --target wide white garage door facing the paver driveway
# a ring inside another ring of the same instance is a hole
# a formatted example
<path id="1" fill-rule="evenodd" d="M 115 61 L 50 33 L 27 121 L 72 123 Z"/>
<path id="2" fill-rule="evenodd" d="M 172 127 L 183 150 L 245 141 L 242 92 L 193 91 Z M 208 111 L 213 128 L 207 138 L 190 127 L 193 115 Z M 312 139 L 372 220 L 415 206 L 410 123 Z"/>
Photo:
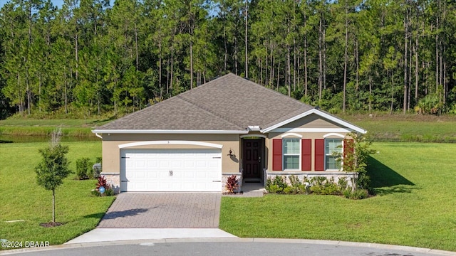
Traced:
<path id="1" fill-rule="evenodd" d="M 120 191 L 222 191 L 221 149 L 122 149 Z"/>

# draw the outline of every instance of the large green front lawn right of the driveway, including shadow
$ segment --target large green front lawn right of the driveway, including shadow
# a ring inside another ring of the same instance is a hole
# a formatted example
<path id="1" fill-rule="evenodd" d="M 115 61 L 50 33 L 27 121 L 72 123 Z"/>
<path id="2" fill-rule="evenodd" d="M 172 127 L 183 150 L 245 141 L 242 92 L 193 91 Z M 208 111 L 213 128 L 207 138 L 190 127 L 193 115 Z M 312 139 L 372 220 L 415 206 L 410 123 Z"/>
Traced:
<path id="1" fill-rule="evenodd" d="M 456 144 L 375 143 L 378 196 L 222 198 L 220 228 L 240 237 L 378 242 L 456 251 Z"/>

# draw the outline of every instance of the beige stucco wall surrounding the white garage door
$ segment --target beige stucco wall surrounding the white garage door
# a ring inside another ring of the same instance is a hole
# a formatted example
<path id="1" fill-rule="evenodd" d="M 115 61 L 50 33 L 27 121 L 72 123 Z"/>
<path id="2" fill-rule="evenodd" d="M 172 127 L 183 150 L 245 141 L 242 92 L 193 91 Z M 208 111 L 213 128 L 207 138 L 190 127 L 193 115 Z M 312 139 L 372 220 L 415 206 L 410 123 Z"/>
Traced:
<path id="1" fill-rule="evenodd" d="M 120 173 L 121 144 L 147 141 L 191 141 L 222 145 L 222 173 L 239 172 L 239 134 L 103 134 L 103 173 Z M 209 146 L 157 144 L 128 149 L 209 149 Z M 229 149 L 235 156 L 227 156 Z"/>

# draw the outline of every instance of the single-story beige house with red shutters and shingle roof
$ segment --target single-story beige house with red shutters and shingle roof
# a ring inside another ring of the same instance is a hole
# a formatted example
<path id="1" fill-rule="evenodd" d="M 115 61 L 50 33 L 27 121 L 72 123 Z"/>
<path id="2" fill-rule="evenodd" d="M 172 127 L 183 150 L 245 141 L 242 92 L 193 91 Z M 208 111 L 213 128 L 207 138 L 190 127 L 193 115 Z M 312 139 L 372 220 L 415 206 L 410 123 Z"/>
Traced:
<path id="1" fill-rule="evenodd" d="M 120 191 L 224 191 L 227 178 L 347 176 L 333 151 L 366 131 L 229 73 L 98 127 Z"/>

